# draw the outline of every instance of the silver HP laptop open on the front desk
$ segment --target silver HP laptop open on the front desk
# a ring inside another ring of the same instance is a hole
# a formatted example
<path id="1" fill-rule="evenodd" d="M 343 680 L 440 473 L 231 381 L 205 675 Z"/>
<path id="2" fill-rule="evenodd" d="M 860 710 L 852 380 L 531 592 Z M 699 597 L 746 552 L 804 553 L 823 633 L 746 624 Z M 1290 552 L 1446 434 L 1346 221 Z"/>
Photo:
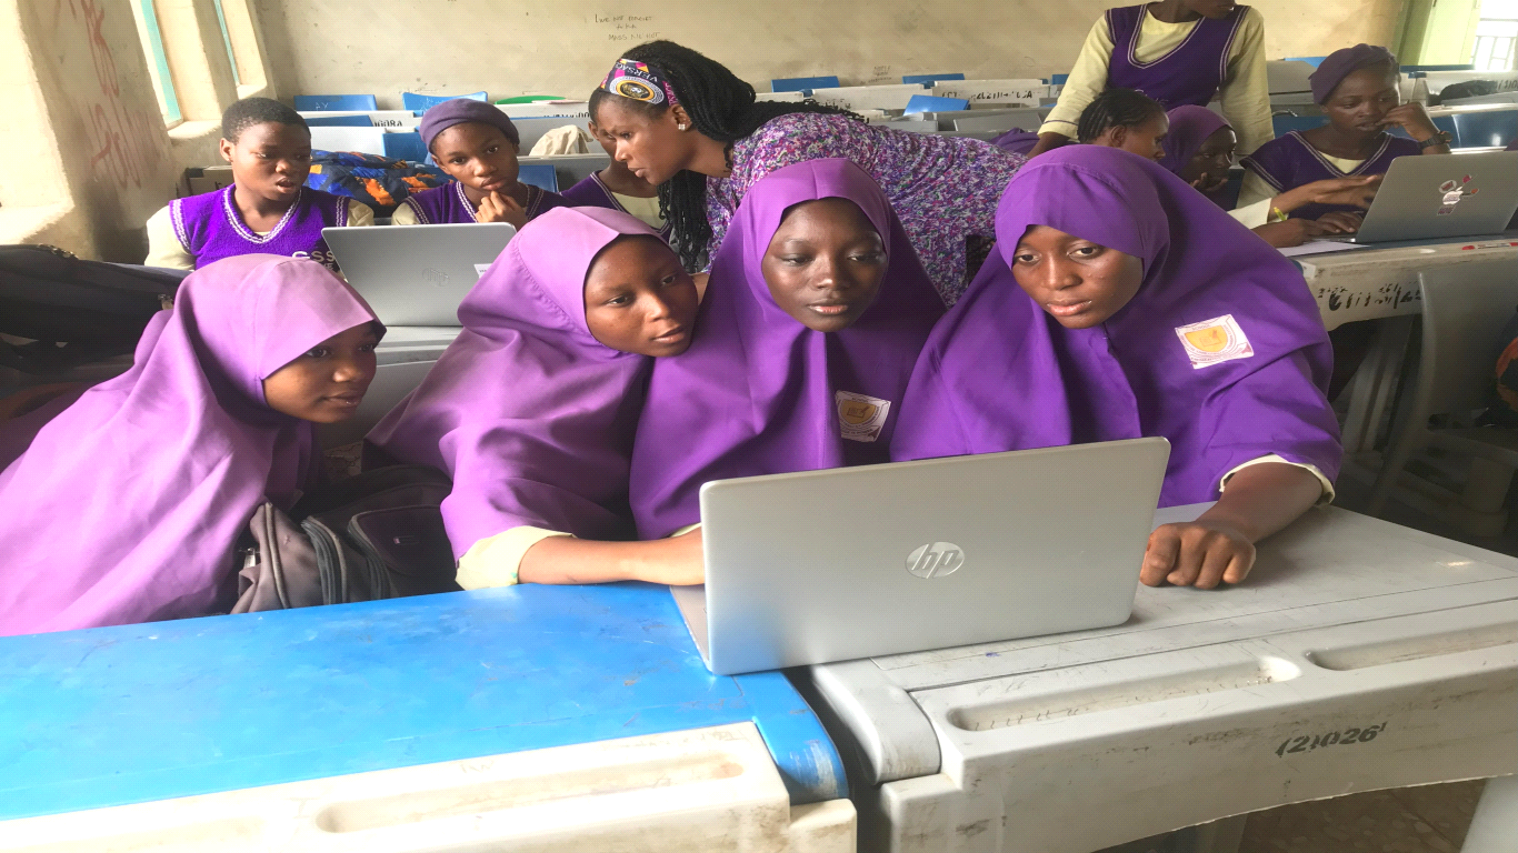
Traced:
<path id="1" fill-rule="evenodd" d="M 1134 439 L 707 483 L 706 586 L 671 589 L 718 675 L 1116 625 L 1169 457 Z"/>

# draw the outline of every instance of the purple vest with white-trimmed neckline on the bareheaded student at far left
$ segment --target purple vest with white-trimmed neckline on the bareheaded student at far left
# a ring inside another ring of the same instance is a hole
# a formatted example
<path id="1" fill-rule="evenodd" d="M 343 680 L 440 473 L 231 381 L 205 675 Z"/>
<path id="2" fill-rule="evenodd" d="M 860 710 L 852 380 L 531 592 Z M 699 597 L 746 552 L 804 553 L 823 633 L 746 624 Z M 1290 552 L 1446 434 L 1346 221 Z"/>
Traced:
<path id="1" fill-rule="evenodd" d="M 254 234 L 237 209 L 232 191 L 237 185 L 175 199 L 168 202 L 168 217 L 175 237 L 194 258 L 196 269 L 235 255 L 287 255 L 310 258 L 331 270 L 337 269 L 323 228 L 348 225 L 348 199 L 310 187 L 301 187 L 294 203 L 269 234 Z"/>

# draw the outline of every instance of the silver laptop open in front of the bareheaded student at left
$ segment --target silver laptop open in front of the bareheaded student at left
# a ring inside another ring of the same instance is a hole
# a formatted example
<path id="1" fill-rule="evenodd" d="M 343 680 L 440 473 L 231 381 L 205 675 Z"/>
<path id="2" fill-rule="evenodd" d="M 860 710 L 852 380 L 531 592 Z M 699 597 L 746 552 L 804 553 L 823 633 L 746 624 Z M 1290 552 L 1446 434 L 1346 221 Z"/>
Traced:
<path id="1" fill-rule="evenodd" d="M 387 326 L 457 326 L 458 304 L 515 234 L 504 222 L 322 229 L 348 284 Z"/>

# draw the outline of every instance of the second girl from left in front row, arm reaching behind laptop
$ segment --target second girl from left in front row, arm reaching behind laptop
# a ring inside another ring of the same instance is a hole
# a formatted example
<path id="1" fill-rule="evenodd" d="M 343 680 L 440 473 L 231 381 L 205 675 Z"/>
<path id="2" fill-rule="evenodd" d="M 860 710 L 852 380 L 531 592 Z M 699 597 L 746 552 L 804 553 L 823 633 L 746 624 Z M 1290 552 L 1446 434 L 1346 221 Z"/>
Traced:
<path id="1" fill-rule="evenodd" d="M 454 478 L 460 586 L 701 583 L 700 536 L 627 542 L 648 370 L 689 346 L 695 310 L 680 260 L 630 214 L 559 208 L 512 240 L 458 307 L 463 332 L 369 433 Z"/>

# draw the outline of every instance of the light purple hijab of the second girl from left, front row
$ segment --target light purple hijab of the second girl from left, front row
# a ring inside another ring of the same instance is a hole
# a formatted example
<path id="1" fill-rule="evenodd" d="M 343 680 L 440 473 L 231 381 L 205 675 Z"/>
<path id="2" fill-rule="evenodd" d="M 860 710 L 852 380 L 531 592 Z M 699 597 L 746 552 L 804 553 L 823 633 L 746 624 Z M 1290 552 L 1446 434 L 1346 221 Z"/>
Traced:
<path id="1" fill-rule="evenodd" d="M 454 556 L 513 527 L 630 539 L 627 466 L 648 364 L 591 335 L 584 276 L 630 214 L 556 208 L 527 223 L 458 307 L 465 331 L 369 440 L 454 478 Z"/>

